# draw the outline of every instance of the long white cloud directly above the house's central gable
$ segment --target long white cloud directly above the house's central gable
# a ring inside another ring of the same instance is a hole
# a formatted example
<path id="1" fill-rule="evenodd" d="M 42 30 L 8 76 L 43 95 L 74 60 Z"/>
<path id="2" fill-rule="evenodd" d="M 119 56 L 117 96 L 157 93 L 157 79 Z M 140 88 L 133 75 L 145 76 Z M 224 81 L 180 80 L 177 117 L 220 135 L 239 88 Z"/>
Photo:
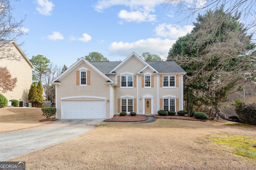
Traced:
<path id="1" fill-rule="evenodd" d="M 138 55 L 142 55 L 144 52 L 159 55 L 162 59 L 166 59 L 164 56 L 168 55 L 170 47 L 176 40 L 149 38 L 141 39 L 132 43 L 113 42 L 108 47 L 108 51 L 111 55 L 116 56 L 128 56 L 132 52 Z"/>

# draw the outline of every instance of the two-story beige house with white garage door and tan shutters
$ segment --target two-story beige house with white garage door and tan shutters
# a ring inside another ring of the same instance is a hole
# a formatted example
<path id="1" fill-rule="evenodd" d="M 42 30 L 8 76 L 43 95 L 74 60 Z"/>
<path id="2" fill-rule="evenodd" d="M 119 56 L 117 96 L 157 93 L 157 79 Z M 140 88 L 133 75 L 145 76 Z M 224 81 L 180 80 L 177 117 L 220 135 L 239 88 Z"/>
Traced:
<path id="1" fill-rule="evenodd" d="M 57 119 L 108 119 L 122 111 L 183 110 L 183 76 L 173 61 L 145 62 L 132 53 L 120 62 L 79 59 L 51 84 Z"/>

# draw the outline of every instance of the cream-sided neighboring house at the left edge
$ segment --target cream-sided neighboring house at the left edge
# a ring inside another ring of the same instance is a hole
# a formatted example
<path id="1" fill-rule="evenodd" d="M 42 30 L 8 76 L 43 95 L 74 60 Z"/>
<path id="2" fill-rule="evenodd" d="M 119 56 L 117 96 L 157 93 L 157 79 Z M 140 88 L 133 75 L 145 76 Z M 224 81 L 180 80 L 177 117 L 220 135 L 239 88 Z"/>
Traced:
<path id="1" fill-rule="evenodd" d="M 13 91 L 3 93 L 7 100 L 16 99 L 19 101 L 28 102 L 28 93 L 32 84 L 32 69 L 34 66 L 30 63 L 26 55 L 22 52 L 20 47 L 15 41 L 8 42 L 8 51 L 10 55 L 16 55 L 19 60 L 0 59 L 0 66 L 7 67 L 8 71 L 12 75 L 12 78 L 17 78 L 16 87 Z M 4 50 L 1 47 L 1 50 Z M 10 48 L 10 50 L 9 50 Z"/>

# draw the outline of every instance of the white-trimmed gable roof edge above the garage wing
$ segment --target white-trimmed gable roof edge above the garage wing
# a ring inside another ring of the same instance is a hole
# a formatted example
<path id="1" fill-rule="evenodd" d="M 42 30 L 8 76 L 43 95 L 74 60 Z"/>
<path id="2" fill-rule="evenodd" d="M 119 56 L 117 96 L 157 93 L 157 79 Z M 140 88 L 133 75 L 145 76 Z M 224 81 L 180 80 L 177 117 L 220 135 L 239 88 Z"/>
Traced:
<path id="1" fill-rule="evenodd" d="M 68 73 L 70 73 L 72 70 L 74 70 L 76 68 L 76 66 L 78 66 L 80 63 L 86 63 L 88 64 L 93 70 L 95 70 L 96 72 L 98 72 L 103 78 L 105 78 L 107 80 L 107 82 L 112 82 L 114 83 L 110 78 L 108 78 L 105 74 L 103 74 L 98 68 L 96 68 L 94 65 L 92 65 L 91 63 L 89 63 L 86 59 L 84 59 L 84 57 L 82 57 L 81 59 L 79 59 L 78 61 L 76 61 L 76 63 L 74 63 L 72 66 L 70 66 L 66 71 L 64 71 L 62 74 L 60 74 L 57 78 L 55 78 L 54 80 L 52 80 L 51 84 L 60 84 L 60 80 L 65 77 Z M 57 82 L 58 81 L 58 82 Z"/>

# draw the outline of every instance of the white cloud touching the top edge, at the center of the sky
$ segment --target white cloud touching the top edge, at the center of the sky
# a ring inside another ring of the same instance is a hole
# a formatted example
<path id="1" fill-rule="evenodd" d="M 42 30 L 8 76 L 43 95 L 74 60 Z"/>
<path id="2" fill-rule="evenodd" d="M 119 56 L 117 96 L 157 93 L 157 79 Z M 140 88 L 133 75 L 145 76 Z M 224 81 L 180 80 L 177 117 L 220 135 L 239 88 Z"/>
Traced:
<path id="1" fill-rule="evenodd" d="M 125 21 L 156 21 L 154 7 L 160 5 L 162 0 L 98 0 L 94 9 L 98 12 L 103 12 L 105 9 L 116 5 L 128 6 L 130 11 L 120 10 L 118 17 Z M 120 21 L 120 24 L 123 22 Z"/>

